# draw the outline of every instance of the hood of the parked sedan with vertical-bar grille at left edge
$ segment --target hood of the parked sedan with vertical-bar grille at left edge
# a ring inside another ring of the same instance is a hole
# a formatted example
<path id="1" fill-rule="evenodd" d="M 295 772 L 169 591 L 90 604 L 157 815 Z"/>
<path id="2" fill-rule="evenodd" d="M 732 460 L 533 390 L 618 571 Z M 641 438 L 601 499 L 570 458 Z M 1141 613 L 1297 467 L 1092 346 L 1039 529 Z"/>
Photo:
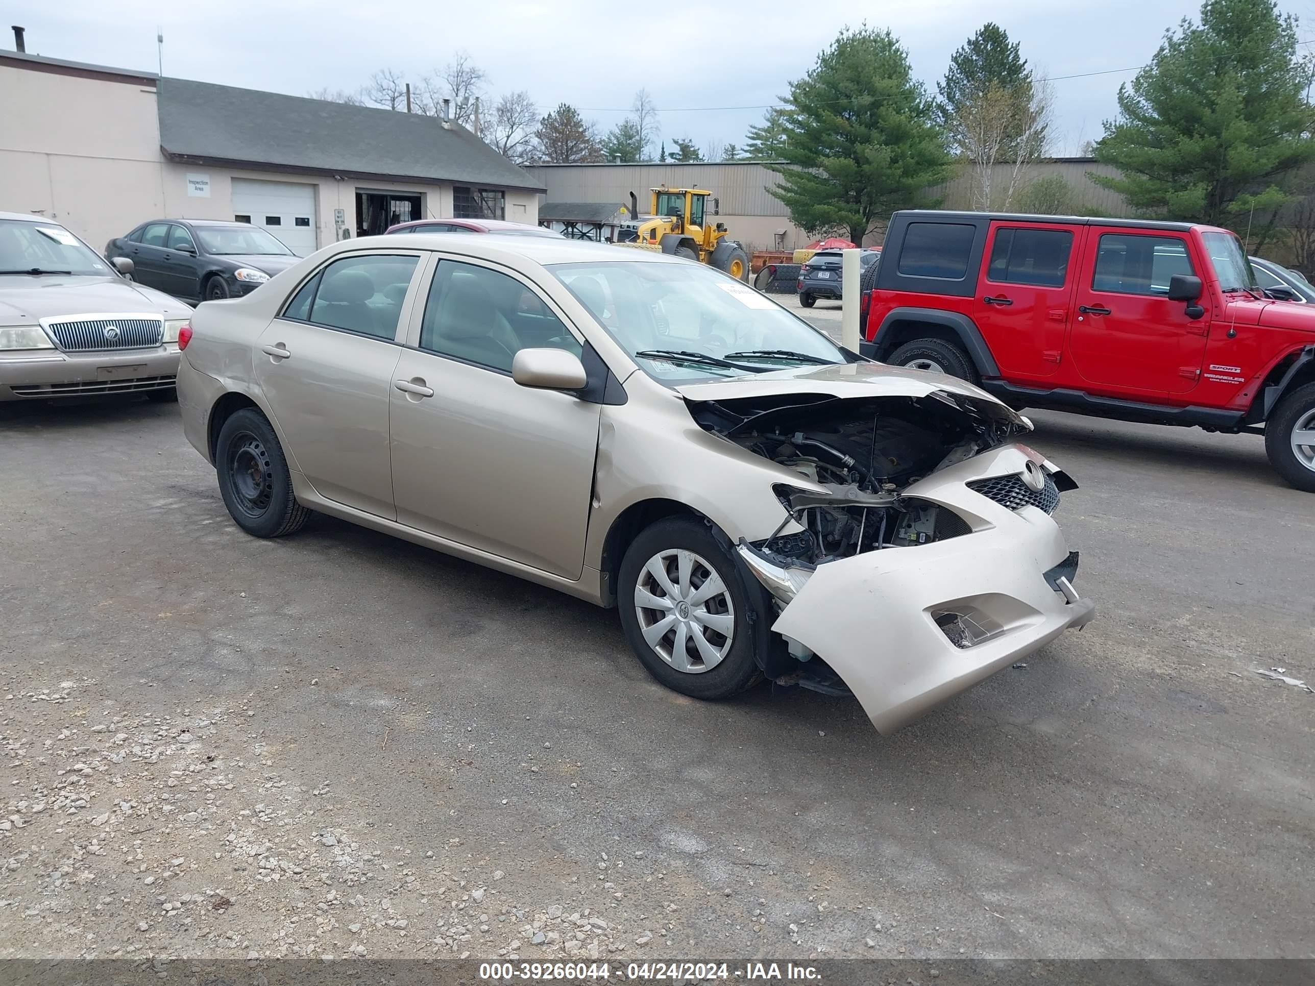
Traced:
<path id="1" fill-rule="evenodd" d="M 89 314 L 159 314 L 187 318 L 188 305 L 121 277 L 0 275 L 0 326 Z"/>

